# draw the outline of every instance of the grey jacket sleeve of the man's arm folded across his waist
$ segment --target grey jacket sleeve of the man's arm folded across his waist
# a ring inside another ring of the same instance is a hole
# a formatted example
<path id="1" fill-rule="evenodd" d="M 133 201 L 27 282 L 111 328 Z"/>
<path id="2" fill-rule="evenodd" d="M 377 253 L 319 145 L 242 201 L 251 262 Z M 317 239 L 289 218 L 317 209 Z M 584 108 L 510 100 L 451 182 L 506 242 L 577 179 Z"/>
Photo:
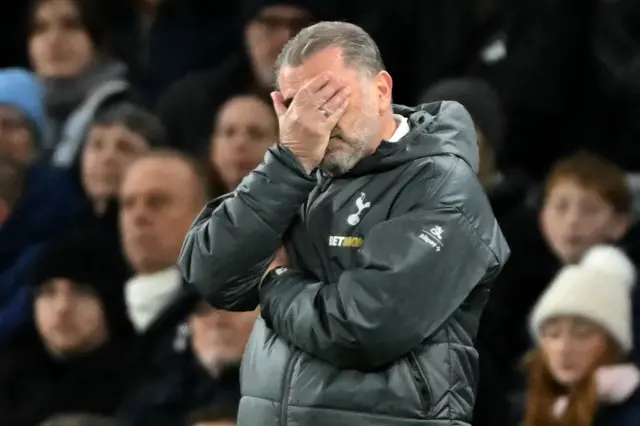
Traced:
<path id="1" fill-rule="evenodd" d="M 336 282 L 295 269 L 272 276 L 260 294 L 265 322 L 339 368 L 376 369 L 417 347 L 501 263 L 486 242 L 500 233 L 491 210 L 478 224 L 444 198 L 373 227 Z"/>

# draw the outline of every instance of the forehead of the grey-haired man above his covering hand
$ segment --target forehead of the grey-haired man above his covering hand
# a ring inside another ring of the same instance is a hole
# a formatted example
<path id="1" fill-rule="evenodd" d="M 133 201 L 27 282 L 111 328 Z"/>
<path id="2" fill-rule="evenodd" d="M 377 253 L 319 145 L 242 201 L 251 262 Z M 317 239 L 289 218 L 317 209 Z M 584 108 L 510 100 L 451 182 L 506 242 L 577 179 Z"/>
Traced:
<path id="1" fill-rule="evenodd" d="M 278 75 L 280 92 L 284 99 L 291 99 L 307 82 L 318 75 L 329 72 L 348 86 L 359 84 L 358 72 L 345 65 L 342 49 L 328 47 L 309 57 L 299 67 L 284 66 Z"/>

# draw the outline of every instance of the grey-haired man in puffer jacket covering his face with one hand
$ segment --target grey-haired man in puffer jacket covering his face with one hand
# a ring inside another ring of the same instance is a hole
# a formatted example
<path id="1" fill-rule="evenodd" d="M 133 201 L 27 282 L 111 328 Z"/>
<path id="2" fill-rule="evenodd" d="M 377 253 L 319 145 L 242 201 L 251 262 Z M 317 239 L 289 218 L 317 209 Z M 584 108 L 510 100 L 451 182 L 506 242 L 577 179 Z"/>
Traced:
<path id="1" fill-rule="evenodd" d="M 509 254 L 469 114 L 393 106 L 377 46 L 348 23 L 301 31 L 277 68 L 278 144 L 179 261 L 216 308 L 261 307 L 238 424 L 468 425 L 473 340 Z"/>

